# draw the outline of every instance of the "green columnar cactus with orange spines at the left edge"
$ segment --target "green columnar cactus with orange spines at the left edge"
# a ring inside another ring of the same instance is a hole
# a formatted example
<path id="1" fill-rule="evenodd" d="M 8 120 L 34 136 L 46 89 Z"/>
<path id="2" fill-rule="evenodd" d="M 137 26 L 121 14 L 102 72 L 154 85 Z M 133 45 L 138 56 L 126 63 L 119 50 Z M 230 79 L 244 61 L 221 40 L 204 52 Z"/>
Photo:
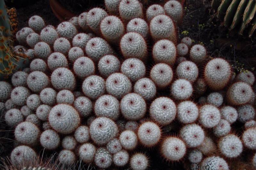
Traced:
<path id="1" fill-rule="evenodd" d="M 12 52 L 11 26 L 4 0 L 0 0 L 0 35 L 0 79 L 3 79 L 14 70 L 24 67 L 27 61 L 25 58 L 15 56 Z M 20 50 L 23 51 L 23 49 Z"/>

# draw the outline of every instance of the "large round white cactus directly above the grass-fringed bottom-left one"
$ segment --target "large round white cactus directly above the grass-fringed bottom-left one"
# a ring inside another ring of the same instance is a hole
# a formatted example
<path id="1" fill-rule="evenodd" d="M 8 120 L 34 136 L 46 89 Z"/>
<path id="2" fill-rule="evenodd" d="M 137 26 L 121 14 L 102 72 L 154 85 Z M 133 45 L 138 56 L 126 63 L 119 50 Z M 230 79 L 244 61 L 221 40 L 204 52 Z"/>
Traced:
<path id="1" fill-rule="evenodd" d="M 34 123 L 24 121 L 16 126 L 14 135 L 18 142 L 35 146 L 38 143 L 40 130 Z"/>

